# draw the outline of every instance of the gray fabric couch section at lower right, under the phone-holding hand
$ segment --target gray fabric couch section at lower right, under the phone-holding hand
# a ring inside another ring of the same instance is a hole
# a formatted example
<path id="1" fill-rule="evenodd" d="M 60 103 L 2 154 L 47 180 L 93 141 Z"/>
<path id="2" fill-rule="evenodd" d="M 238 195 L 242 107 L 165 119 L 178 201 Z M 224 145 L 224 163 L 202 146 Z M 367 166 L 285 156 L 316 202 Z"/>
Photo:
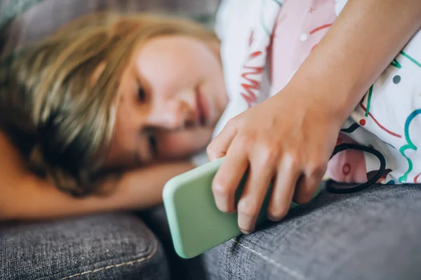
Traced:
<path id="1" fill-rule="evenodd" d="M 205 253 L 209 279 L 421 279 L 420 185 L 323 191 L 265 227 Z"/>

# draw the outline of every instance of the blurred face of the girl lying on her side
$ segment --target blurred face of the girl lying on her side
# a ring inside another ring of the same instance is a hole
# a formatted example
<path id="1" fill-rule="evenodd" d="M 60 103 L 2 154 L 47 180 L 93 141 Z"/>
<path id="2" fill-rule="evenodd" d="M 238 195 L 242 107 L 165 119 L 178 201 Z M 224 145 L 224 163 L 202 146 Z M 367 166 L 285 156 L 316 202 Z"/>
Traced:
<path id="1" fill-rule="evenodd" d="M 135 49 L 121 76 L 107 168 L 178 159 L 207 145 L 228 102 L 218 48 L 161 36 Z"/>

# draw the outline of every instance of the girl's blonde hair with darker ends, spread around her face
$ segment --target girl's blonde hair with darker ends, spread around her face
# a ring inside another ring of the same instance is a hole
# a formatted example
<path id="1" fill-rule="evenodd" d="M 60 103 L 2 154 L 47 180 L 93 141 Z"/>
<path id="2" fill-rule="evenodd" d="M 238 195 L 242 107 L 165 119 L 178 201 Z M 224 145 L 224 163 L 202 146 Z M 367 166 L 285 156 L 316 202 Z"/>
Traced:
<path id="1" fill-rule="evenodd" d="M 29 166 L 74 195 L 96 192 L 94 182 L 112 137 L 123 69 L 135 46 L 171 34 L 209 43 L 218 40 L 189 20 L 93 13 L 29 48 L 11 69 L 0 70 L 3 129 L 12 138 L 31 142 Z M 93 84 L 93 73 L 102 65 Z"/>

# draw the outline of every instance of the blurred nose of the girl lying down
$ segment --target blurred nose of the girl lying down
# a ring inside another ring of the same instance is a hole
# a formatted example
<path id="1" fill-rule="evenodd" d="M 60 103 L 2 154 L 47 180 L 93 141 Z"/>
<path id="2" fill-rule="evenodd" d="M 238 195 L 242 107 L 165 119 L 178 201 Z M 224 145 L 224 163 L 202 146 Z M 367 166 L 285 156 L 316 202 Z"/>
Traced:
<path id="1" fill-rule="evenodd" d="M 192 107 L 185 100 L 168 100 L 161 108 L 156 108 L 152 114 L 152 125 L 171 131 L 185 128 L 194 123 Z"/>

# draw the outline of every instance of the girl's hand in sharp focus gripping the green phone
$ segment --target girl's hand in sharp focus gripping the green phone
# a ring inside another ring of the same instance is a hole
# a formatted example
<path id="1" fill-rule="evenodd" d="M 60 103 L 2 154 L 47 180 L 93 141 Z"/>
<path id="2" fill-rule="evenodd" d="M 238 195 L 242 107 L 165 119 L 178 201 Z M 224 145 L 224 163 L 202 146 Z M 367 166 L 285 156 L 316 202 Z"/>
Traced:
<path id="1" fill-rule="evenodd" d="M 342 125 L 330 109 L 333 105 L 316 96 L 287 86 L 231 119 L 208 146 L 210 160 L 226 156 L 212 184 L 215 203 L 220 211 L 238 211 L 241 232 L 253 232 L 273 178 L 270 220 L 281 220 L 292 200 L 305 204 L 312 199 Z M 236 187 L 247 170 L 248 180 L 235 208 Z"/>

